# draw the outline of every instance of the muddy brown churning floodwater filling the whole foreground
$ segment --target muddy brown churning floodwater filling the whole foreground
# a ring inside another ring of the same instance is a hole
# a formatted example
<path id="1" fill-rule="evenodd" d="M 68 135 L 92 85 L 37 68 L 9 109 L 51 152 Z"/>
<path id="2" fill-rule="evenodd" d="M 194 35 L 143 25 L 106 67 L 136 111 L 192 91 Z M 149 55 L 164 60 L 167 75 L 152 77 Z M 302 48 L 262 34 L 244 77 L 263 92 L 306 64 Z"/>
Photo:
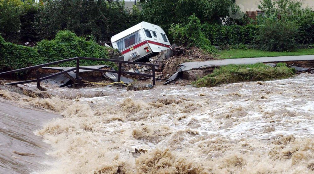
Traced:
<path id="1" fill-rule="evenodd" d="M 105 89 L 75 99 L 68 88 L 46 99 L 0 90 L 0 173 L 314 173 L 311 74 L 81 95 Z"/>

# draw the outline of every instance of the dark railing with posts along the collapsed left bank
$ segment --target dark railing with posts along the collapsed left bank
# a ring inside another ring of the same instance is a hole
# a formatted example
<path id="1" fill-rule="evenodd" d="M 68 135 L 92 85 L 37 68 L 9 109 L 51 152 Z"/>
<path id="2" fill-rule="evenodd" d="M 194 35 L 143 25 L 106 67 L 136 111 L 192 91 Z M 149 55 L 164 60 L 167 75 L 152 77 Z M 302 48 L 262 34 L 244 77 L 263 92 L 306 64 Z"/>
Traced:
<path id="1" fill-rule="evenodd" d="M 98 61 L 106 61 L 106 62 L 116 62 L 119 63 L 118 65 L 118 70 L 101 70 L 101 69 L 96 69 L 96 68 L 88 68 L 88 67 L 80 67 L 79 66 L 79 60 L 98 60 Z M 49 66 L 49 65 L 56 65 L 56 64 L 60 64 L 63 62 L 69 62 L 69 61 L 73 61 L 76 60 L 76 68 L 71 68 L 65 71 L 61 71 L 46 77 L 40 77 L 40 73 L 39 73 L 39 68 L 41 67 L 45 67 L 45 66 Z M 152 67 L 152 74 L 143 74 L 143 73 L 135 73 L 135 72 L 128 72 L 128 71 L 122 71 L 121 67 L 122 67 L 122 63 L 127 63 L 127 64 L 136 64 L 136 65 L 146 65 L 146 66 L 151 66 Z M 79 81 L 79 70 L 91 70 L 91 71 L 100 71 L 100 72 L 111 72 L 111 73 L 117 73 L 118 74 L 118 82 L 121 81 L 121 74 L 130 74 L 130 75 L 136 75 L 136 76 L 144 76 L 144 77 L 153 77 L 153 86 L 156 86 L 156 79 L 155 79 L 155 67 L 158 67 L 159 65 L 155 65 L 155 64 L 147 64 L 147 63 L 141 63 L 141 62 L 130 62 L 130 61 L 124 61 L 124 60 L 113 60 L 113 59 L 100 59 L 100 58 L 90 58 L 90 57 L 73 57 L 70 59 L 63 59 L 63 60 L 59 60 L 59 61 L 55 61 L 55 62 L 50 62 L 50 63 L 46 63 L 46 64 L 41 64 L 41 65 L 35 65 L 35 66 L 30 66 L 30 67 L 26 67 L 26 68 L 21 68 L 21 69 L 17 69 L 17 70 L 11 70 L 11 71 L 6 71 L 6 72 L 2 72 L 0 73 L 0 76 L 2 75 L 6 75 L 6 74 L 12 74 L 15 72 L 21 72 L 21 71 L 25 71 L 25 70 L 36 70 L 36 79 L 33 80 L 27 80 L 27 81 L 19 81 L 19 82 L 14 82 L 14 83 L 7 83 L 7 85 L 18 85 L 18 84 L 24 84 L 24 83 L 30 83 L 30 82 L 37 82 L 37 87 L 40 88 L 40 81 L 55 77 L 55 76 L 59 76 L 61 74 L 65 74 L 68 73 L 70 71 L 76 70 L 76 80 Z"/>

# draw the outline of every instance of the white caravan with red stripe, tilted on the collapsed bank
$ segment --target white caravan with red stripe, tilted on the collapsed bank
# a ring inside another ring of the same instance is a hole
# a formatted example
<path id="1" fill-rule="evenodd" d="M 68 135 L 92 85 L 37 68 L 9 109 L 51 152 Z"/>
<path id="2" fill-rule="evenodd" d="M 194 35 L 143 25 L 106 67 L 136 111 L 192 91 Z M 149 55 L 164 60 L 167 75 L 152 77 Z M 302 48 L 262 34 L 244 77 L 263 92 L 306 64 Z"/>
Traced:
<path id="1" fill-rule="evenodd" d="M 141 22 L 112 36 L 111 43 L 122 53 L 125 61 L 137 61 L 171 46 L 165 31 L 148 22 Z"/>

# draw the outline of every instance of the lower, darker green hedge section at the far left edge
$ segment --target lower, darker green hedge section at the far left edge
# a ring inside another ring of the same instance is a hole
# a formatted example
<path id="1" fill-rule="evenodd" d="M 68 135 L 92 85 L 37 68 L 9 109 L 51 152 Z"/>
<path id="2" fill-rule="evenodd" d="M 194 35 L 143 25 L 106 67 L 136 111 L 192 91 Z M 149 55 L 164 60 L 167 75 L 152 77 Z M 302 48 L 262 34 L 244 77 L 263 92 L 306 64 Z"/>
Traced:
<path id="1" fill-rule="evenodd" d="M 24 68 L 43 63 L 34 48 L 5 42 L 0 35 L 0 71 Z"/>

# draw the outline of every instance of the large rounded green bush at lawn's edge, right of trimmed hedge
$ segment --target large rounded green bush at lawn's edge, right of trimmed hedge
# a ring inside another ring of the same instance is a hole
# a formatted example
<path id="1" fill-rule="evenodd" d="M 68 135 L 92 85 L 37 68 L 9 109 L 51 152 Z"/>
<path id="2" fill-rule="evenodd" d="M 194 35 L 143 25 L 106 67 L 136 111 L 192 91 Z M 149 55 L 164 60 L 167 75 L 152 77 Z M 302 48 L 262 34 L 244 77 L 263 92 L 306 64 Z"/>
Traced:
<path id="1" fill-rule="evenodd" d="M 298 26 L 294 22 L 271 19 L 259 27 L 258 47 L 266 51 L 292 51 L 297 48 Z"/>

